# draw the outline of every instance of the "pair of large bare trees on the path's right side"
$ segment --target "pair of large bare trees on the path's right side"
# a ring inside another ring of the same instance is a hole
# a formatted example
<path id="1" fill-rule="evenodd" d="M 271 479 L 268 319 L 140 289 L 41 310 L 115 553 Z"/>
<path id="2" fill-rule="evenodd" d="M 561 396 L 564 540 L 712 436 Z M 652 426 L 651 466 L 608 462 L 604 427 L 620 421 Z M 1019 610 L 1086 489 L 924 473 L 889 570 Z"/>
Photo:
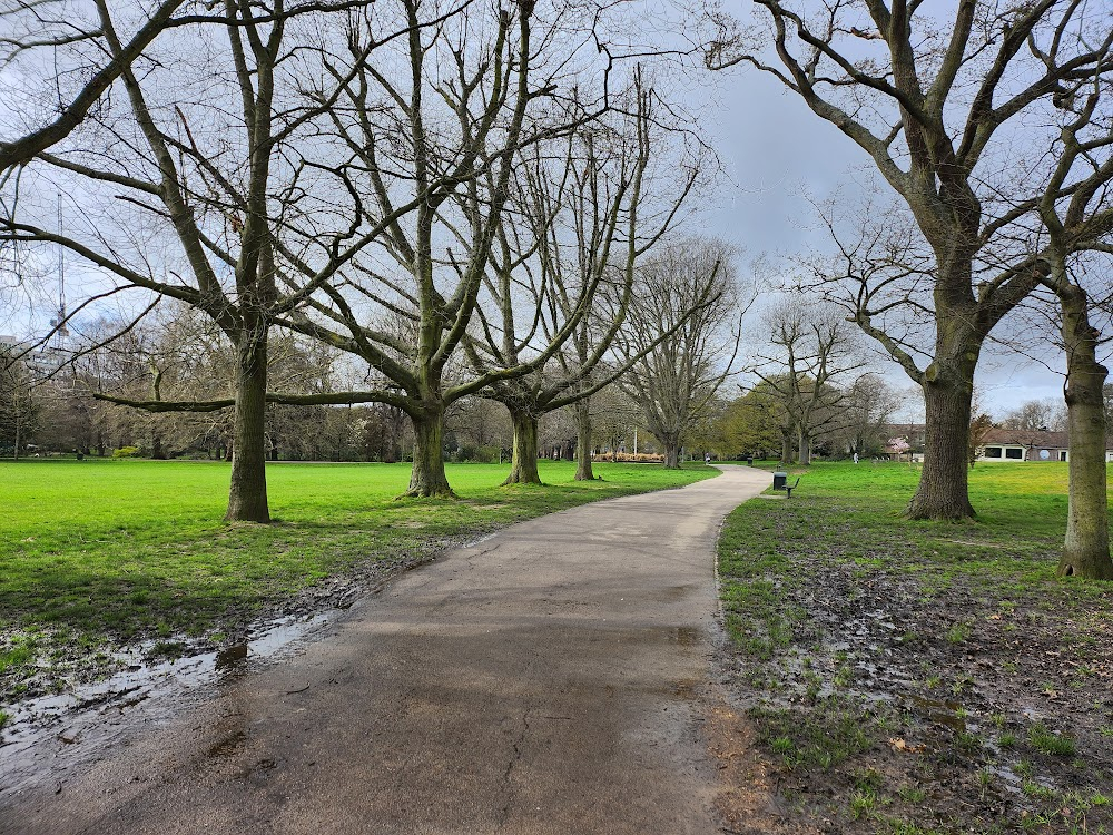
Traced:
<path id="1" fill-rule="evenodd" d="M 1071 500 L 1064 574 L 1113 579 L 1100 335 L 1087 276 L 1113 252 L 1113 18 L 1073 0 L 948 11 L 905 2 L 756 0 L 771 48 L 716 18 L 708 63 L 778 79 L 841 130 L 898 196 L 850 223 L 811 289 L 840 304 L 923 389 L 913 519 L 974 515 L 965 444 L 974 374 L 1003 318 L 1046 289 L 1066 350 Z M 1022 176 L 1017 176 L 1023 171 Z"/>

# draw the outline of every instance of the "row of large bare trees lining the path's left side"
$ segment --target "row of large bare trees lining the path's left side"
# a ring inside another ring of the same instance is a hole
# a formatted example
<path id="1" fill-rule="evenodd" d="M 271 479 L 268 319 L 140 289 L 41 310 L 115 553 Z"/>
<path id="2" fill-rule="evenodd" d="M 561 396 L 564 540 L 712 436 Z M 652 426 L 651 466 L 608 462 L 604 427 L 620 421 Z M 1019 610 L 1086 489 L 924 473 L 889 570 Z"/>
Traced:
<path id="1" fill-rule="evenodd" d="M 42 6 L 23 12 L 41 21 Z M 156 414 L 234 406 L 229 520 L 269 519 L 276 405 L 405 413 L 408 494 L 450 495 L 445 420 L 482 394 L 513 418 L 512 480 L 536 481 L 542 414 L 581 401 L 590 414 L 594 392 L 730 305 L 723 253 L 672 234 L 702 148 L 600 38 L 621 4 L 584 24 L 564 2 L 187 2 L 158 7 L 168 33 L 138 52 L 146 23 L 120 30 L 146 16 L 97 11 L 87 37 L 59 20 L 28 49 L 78 63 L 102 50 L 121 95 L 14 160 L 0 228 L 17 266 L 62 247 L 100 296 L 136 293 L 145 314 L 170 299 L 228 346 L 215 387 L 177 385 L 196 383 L 187 360 L 142 393 L 98 396 Z M 80 195 L 65 228 L 48 222 L 56 191 Z M 664 244 L 661 257 L 698 261 L 684 275 L 698 281 L 673 321 L 619 342 Z M 277 374 L 275 328 L 361 373 L 327 390 Z M 585 421 L 581 434 L 590 449 Z"/>

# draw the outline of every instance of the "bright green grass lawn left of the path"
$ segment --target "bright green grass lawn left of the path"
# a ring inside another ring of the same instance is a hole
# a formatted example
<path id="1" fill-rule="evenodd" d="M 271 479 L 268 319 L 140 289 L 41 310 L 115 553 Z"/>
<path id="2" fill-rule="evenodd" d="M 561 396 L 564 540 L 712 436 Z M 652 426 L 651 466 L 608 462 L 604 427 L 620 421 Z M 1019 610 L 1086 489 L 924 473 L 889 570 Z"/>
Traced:
<path id="1" fill-rule="evenodd" d="M 220 521 L 225 463 L 0 463 L 0 698 L 75 647 L 95 655 L 139 638 L 219 638 L 356 566 L 412 560 L 530 517 L 716 474 L 701 464 L 668 472 L 599 463 L 602 480 L 575 482 L 572 463 L 540 466 L 545 487 L 501 488 L 505 465 L 450 465 L 461 497 L 452 501 L 396 500 L 408 464 L 274 464 L 277 521 L 252 525 Z"/>

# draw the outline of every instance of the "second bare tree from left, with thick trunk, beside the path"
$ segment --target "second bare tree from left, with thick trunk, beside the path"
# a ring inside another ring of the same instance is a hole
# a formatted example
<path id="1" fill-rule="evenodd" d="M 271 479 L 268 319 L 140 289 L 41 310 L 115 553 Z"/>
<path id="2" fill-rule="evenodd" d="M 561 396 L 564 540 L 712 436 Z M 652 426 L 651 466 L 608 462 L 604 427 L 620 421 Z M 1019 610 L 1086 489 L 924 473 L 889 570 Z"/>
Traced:
<path id="1" fill-rule="evenodd" d="M 418 6 L 403 4 L 416 23 Z M 490 287 L 484 282 L 521 150 L 560 143 L 609 108 L 610 76 L 598 52 L 592 50 L 591 61 L 593 70 L 603 70 L 602 89 L 575 75 L 587 60 L 582 45 L 572 56 L 549 60 L 552 50 L 569 46 L 562 27 L 570 8 L 558 6 L 541 20 L 536 40 L 533 12 L 533 3 L 522 2 L 492 21 L 470 8 L 453 26 L 429 32 L 413 26 L 404 56 L 408 72 L 398 78 L 359 58 L 359 45 L 374 40 L 368 23 L 353 29 L 346 62 L 331 65 L 335 77 L 347 79 L 333 127 L 354 157 L 344 173 L 349 187 L 384 215 L 396 213 L 400 195 L 420 200 L 412 216 L 390 224 L 377 247 L 346 271 L 343 285 L 323 286 L 307 310 L 283 324 L 362 357 L 378 375 L 377 387 L 357 396 L 410 415 L 415 443 L 408 495 L 452 495 L 443 460 L 449 407 L 543 367 L 563 338 L 528 358 L 485 363 L 474 373 L 459 358 Z M 569 94 L 555 96 L 564 88 Z M 433 187 L 445 171 L 453 186 Z M 518 261 L 508 258 L 495 269 Z"/>

